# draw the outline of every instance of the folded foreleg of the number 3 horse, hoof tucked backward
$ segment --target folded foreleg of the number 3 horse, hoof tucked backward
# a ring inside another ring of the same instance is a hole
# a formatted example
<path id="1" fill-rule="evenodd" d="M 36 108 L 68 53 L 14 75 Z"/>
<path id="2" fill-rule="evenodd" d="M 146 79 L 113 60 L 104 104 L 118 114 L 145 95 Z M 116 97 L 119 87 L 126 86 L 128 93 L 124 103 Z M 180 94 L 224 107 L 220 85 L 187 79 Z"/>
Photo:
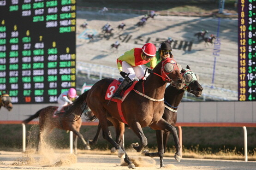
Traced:
<path id="1" fill-rule="evenodd" d="M 133 130 L 133 132 L 140 138 L 140 145 L 138 143 L 132 143 L 131 147 L 133 147 L 137 152 L 141 152 L 141 150 L 148 145 L 148 140 L 143 134 L 140 123 L 130 123 L 129 126 Z"/>

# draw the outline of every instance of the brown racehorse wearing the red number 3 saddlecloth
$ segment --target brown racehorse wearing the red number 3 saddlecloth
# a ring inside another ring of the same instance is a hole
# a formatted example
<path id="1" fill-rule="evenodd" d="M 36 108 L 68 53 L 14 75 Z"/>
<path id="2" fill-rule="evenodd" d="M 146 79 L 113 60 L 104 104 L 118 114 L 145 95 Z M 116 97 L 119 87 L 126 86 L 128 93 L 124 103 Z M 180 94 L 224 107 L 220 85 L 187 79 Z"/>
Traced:
<path id="1" fill-rule="evenodd" d="M 121 106 L 114 101 L 105 100 L 105 94 L 113 79 L 101 79 L 92 86 L 88 93 L 80 95 L 73 103 L 73 106 L 64 113 L 64 116 L 73 113 L 78 114 L 78 109 L 85 102 L 99 119 L 103 138 L 109 141 L 116 150 L 119 150 L 118 156 L 119 158 L 124 158 L 128 168 L 135 168 L 135 165 L 125 152 L 124 146 L 119 145 L 123 143 L 125 123 L 140 139 L 140 144 L 132 144 L 132 147 L 137 152 L 140 152 L 148 143 L 143 134 L 143 127 L 149 126 L 155 130 L 167 129 L 172 133 L 175 133 L 175 131 L 177 133 L 177 130 L 162 118 L 162 115 L 164 112 L 163 97 L 167 82 L 170 82 L 177 89 L 181 89 L 185 85 L 185 80 L 181 76 L 180 70 L 181 66 L 174 59 L 168 58 L 161 61 L 152 71 L 153 74 L 150 74 L 146 80 L 138 81 L 135 84 L 133 90 L 121 103 Z M 107 94 L 108 96 L 113 95 L 113 86 L 110 89 L 112 91 Z M 122 110 L 121 116 L 117 106 L 120 106 L 119 108 Z M 119 144 L 112 139 L 107 120 L 111 121 L 115 127 Z M 177 141 L 175 142 L 176 153 L 174 158 L 180 161 L 179 139 Z"/>

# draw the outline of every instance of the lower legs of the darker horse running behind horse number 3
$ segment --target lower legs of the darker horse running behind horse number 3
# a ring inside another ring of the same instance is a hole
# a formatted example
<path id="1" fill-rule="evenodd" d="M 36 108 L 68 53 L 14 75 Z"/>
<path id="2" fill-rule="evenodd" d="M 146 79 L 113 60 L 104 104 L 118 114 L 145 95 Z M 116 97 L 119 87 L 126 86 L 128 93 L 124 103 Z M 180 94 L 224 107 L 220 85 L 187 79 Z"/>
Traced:
<path id="1" fill-rule="evenodd" d="M 155 134 L 156 134 L 158 152 L 148 152 L 146 150 L 146 151 L 143 151 L 143 154 L 145 154 L 145 156 L 149 156 L 151 158 L 159 156 L 160 157 L 160 167 L 163 167 L 164 166 L 164 163 L 163 163 L 163 156 L 164 156 L 163 131 L 155 130 Z"/>

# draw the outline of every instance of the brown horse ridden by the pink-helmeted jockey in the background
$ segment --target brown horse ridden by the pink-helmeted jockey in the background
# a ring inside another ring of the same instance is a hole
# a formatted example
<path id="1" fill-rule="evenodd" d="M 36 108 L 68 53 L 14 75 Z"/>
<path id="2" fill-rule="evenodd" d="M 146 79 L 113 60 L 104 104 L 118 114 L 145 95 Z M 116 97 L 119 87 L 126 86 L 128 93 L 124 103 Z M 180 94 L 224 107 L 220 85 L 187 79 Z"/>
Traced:
<path id="1" fill-rule="evenodd" d="M 71 105 L 63 107 L 63 110 L 67 110 Z M 82 113 L 86 112 L 87 115 L 92 114 L 91 111 L 88 111 L 88 107 L 80 108 L 80 115 L 79 114 L 72 114 L 68 117 L 55 117 L 53 118 L 54 111 L 57 110 L 57 106 L 48 106 L 40 109 L 37 111 L 34 115 L 30 116 L 29 118 L 25 119 L 23 123 L 29 123 L 31 120 L 39 117 L 39 134 L 38 134 L 38 143 L 36 151 L 39 151 L 40 145 L 42 144 L 42 141 L 45 137 L 43 134 L 49 134 L 54 128 L 63 129 L 66 131 L 72 131 L 73 132 L 73 145 L 74 145 L 74 151 L 75 154 L 77 154 L 77 138 L 79 138 L 83 141 L 83 144 L 85 145 L 86 149 L 90 149 L 90 147 L 86 144 L 86 141 L 83 138 L 83 135 L 79 132 L 80 128 L 82 126 L 82 120 L 81 115 Z M 76 119 L 77 121 L 72 121 Z"/>

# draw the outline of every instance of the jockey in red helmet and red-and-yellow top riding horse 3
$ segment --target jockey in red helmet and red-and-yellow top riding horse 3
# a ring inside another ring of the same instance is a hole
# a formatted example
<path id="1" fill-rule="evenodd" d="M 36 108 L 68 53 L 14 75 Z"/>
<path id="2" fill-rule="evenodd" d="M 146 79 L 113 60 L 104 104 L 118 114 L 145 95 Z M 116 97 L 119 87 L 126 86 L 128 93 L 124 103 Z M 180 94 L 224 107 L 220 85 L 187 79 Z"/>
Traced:
<path id="1" fill-rule="evenodd" d="M 122 100 L 122 96 L 120 95 L 121 91 L 131 80 L 134 80 L 136 76 L 139 79 L 145 79 L 144 71 L 141 67 L 142 64 L 150 62 L 150 68 L 155 68 L 155 52 L 155 45 L 152 43 L 146 43 L 142 48 L 133 48 L 117 59 L 117 67 L 120 71 L 120 75 L 125 79 L 121 82 L 113 95 L 114 99 Z M 126 77 L 128 73 L 130 73 L 128 76 L 129 78 Z"/>

